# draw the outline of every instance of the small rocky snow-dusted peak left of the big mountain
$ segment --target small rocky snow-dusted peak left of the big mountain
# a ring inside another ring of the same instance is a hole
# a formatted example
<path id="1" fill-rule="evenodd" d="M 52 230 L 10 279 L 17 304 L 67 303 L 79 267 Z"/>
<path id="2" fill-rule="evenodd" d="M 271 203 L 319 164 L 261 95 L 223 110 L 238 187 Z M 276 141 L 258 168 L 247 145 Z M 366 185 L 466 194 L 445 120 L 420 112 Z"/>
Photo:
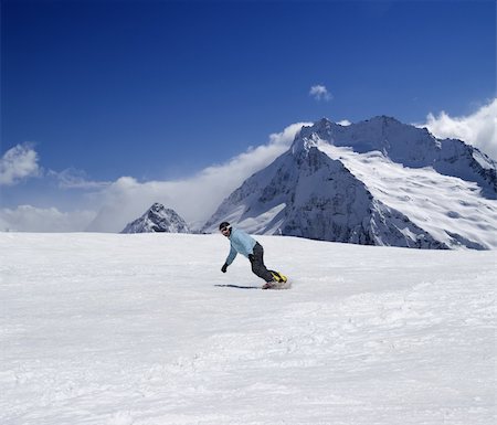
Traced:
<path id="1" fill-rule="evenodd" d="M 139 219 L 127 224 L 120 233 L 150 232 L 191 233 L 188 224 L 175 210 L 166 209 L 157 202 Z"/>

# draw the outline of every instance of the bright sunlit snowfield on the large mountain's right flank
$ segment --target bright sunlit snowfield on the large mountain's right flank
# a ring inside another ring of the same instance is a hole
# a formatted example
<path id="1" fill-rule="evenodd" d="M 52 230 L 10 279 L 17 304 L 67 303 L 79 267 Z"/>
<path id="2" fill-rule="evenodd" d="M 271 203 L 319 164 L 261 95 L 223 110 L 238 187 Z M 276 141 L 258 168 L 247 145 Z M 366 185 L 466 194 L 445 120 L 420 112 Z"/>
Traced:
<path id="1" fill-rule="evenodd" d="M 393 208 L 447 246 L 497 248 L 497 201 L 479 195 L 476 183 L 441 176 L 433 168 L 408 168 L 380 152 L 357 153 L 321 144 L 374 199 Z"/>

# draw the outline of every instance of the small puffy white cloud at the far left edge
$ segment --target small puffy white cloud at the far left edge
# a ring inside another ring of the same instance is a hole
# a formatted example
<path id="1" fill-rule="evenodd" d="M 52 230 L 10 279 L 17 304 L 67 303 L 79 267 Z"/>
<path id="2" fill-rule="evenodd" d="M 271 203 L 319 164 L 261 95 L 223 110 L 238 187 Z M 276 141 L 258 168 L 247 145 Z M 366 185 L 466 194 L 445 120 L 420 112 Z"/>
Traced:
<path id="1" fill-rule="evenodd" d="M 17 145 L 0 159 L 0 185 L 13 185 L 22 179 L 38 177 L 38 153 L 29 144 Z"/>

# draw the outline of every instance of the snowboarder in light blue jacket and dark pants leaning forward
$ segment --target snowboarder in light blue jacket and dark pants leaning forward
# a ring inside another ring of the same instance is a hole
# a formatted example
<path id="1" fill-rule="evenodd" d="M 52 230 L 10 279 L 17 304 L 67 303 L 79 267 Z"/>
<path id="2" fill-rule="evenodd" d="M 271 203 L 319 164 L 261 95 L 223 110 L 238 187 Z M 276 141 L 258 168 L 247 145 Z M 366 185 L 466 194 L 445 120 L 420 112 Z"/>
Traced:
<path id="1" fill-rule="evenodd" d="M 228 266 L 233 263 L 236 254 L 242 254 L 248 258 L 252 265 L 252 272 L 264 279 L 266 283 L 263 289 L 283 287 L 287 281 L 286 276 L 278 272 L 268 270 L 264 265 L 264 248 L 252 236 L 247 235 L 240 229 L 233 227 L 228 222 L 222 222 L 219 225 L 220 232 L 230 240 L 230 254 L 226 257 L 222 273 L 226 273 Z"/>

